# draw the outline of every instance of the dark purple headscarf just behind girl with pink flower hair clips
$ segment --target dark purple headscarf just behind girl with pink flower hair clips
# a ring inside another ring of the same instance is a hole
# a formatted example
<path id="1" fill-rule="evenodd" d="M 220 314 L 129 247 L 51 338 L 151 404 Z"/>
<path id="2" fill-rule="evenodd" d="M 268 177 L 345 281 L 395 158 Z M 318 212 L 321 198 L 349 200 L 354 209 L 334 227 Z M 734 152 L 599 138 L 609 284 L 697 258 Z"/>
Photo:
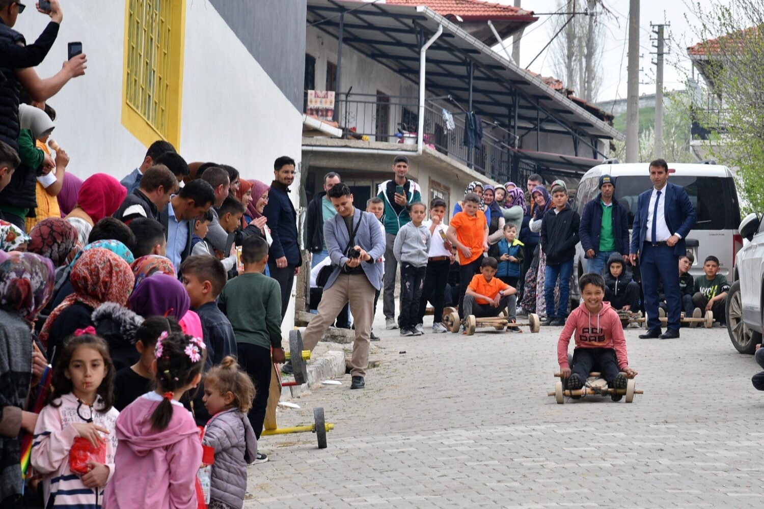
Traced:
<path id="1" fill-rule="evenodd" d="M 130 309 L 144 318 L 183 318 L 191 308 L 191 300 L 183 283 L 167 274 L 154 274 L 135 287 L 128 302 Z"/>

